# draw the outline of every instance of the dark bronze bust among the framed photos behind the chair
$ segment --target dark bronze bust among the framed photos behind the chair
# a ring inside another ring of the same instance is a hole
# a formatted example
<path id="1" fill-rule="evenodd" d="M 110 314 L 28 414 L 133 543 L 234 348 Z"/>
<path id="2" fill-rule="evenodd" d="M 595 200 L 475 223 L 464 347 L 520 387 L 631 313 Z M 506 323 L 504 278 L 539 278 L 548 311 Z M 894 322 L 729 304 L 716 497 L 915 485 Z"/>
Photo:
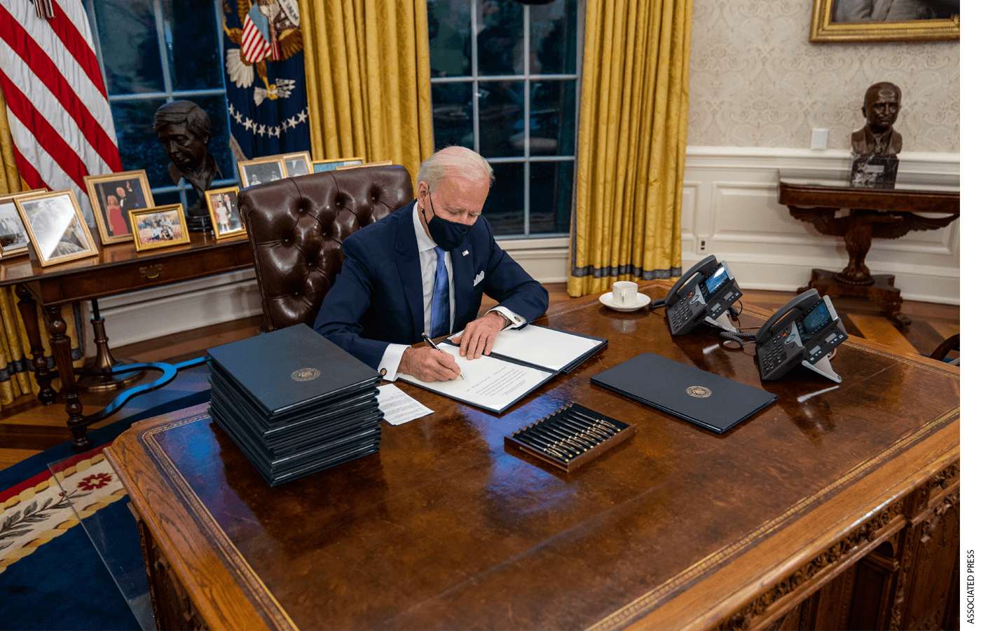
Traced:
<path id="1" fill-rule="evenodd" d="M 211 227 L 204 192 L 211 187 L 221 169 L 208 153 L 211 141 L 211 118 L 192 101 L 166 103 L 153 115 L 153 131 L 171 159 L 168 168 L 174 184 L 181 178 L 194 187 L 198 199 L 187 208 L 187 229 L 204 232 Z"/>

